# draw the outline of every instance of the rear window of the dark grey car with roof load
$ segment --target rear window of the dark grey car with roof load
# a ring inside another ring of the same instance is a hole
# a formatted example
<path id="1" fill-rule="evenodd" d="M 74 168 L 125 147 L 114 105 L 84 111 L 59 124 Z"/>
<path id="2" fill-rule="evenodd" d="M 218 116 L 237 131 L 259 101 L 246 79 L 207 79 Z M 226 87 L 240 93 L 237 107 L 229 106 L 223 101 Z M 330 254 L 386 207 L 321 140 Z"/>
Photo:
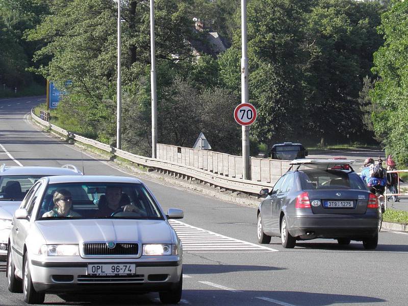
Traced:
<path id="1" fill-rule="evenodd" d="M 300 182 L 302 189 L 360 189 L 367 186 L 355 172 L 333 169 L 302 170 Z"/>

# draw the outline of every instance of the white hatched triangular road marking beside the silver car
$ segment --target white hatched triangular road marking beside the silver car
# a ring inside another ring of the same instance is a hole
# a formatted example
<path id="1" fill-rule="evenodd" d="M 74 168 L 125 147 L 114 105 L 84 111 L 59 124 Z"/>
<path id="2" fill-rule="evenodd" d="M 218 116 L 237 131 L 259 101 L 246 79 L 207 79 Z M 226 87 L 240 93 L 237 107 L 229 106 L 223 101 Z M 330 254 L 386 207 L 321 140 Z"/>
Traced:
<path id="1" fill-rule="evenodd" d="M 203 230 L 179 220 L 169 220 L 187 252 L 276 252 L 277 250 Z"/>

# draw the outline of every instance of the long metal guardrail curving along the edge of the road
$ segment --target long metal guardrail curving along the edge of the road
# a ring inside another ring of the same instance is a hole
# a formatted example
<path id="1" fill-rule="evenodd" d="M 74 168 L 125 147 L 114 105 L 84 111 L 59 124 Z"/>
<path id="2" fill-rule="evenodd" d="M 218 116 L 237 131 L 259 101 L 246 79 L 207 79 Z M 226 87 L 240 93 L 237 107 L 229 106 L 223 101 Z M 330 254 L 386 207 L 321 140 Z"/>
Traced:
<path id="1" fill-rule="evenodd" d="M 188 177 L 193 177 L 194 179 L 197 179 L 202 182 L 209 183 L 209 184 L 213 184 L 218 187 L 222 187 L 222 188 L 226 188 L 230 190 L 236 190 L 236 191 L 243 191 L 247 193 L 258 194 L 262 188 L 271 188 L 271 184 L 264 183 L 264 182 L 242 180 L 236 177 L 228 177 L 228 176 L 220 175 L 217 173 L 212 173 L 207 170 L 197 169 L 189 165 L 183 165 L 183 164 L 178 164 L 175 162 L 169 162 L 165 160 L 153 159 L 149 157 L 135 155 L 130 152 L 123 151 L 121 149 L 110 146 L 108 144 L 101 143 L 99 141 L 85 138 L 83 136 L 74 134 L 72 132 L 65 131 L 61 129 L 61 127 L 58 127 L 55 124 L 49 123 L 37 117 L 34 114 L 33 110 L 31 110 L 31 116 L 38 123 L 44 126 L 47 126 L 50 130 L 56 131 L 59 134 L 66 136 L 67 138 L 71 138 L 79 142 L 91 145 L 98 149 L 109 152 L 110 154 L 113 154 L 115 156 L 129 160 L 136 164 L 143 165 L 145 167 L 151 167 L 151 168 L 156 168 L 158 170 L 166 170 L 166 171 L 186 175 Z"/>

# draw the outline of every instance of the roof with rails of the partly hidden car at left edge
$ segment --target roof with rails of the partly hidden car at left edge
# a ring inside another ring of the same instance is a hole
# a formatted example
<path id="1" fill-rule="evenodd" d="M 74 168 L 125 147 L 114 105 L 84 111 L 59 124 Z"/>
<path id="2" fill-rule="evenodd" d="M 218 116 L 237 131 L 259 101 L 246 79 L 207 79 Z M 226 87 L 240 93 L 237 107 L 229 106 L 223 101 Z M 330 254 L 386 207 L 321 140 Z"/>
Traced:
<path id="1" fill-rule="evenodd" d="M 63 167 L 2 165 L 0 167 L 1 175 L 82 175 L 82 172 L 72 165 L 64 165 Z"/>

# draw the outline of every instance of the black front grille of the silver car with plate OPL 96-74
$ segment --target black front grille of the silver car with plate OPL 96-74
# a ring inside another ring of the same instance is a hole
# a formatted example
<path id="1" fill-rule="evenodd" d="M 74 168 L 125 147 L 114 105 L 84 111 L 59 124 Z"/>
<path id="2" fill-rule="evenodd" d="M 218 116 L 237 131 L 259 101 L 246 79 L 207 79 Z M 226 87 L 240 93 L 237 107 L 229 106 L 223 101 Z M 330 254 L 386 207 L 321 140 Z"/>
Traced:
<path id="1" fill-rule="evenodd" d="M 85 256 L 136 256 L 138 253 L 139 245 L 137 243 L 118 242 L 114 248 L 108 248 L 106 243 L 84 243 Z"/>

